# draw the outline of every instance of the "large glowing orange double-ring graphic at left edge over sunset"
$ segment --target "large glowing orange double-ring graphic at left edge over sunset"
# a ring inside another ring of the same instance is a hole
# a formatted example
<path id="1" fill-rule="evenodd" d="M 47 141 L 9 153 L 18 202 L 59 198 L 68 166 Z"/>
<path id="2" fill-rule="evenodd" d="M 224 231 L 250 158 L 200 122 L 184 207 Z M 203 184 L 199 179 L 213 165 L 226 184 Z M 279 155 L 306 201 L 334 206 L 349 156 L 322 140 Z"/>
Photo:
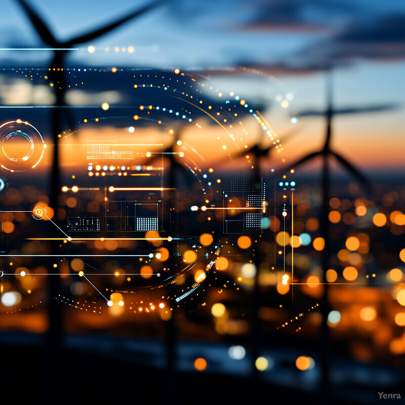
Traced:
<path id="1" fill-rule="evenodd" d="M 9 121 L 0 126 L 0 165 L 10 172 L 24 172 L 41 161 L 46 144 L 27 121 Z"/>

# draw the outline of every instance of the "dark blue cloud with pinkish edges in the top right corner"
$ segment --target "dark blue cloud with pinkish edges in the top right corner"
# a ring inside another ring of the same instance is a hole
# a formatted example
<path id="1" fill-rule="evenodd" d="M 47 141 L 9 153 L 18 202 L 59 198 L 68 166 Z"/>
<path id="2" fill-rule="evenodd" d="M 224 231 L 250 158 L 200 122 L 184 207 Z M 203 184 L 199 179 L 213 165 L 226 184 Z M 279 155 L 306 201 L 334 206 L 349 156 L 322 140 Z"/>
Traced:
<path id="1" fill-rule="evenodd" d="M 400 6 L 400 5 L 399 5 Z M 350 3 L 335 0 L 271 0 L 242 29 L 291 33 L 313 30 L 310 41 L 289 56 L 239 60 L 239 66 L 267 65 L 273 72 L 299 74 L 354 64 L 358 59 L 405 58 L 405 13 L 394 0 Z M 316 31 L 318 30 L 318 31 Z M 298 41 L 294 36 L 291 41 Z M 264 63 L 263 63 L 264 62 Z M 264 69 L 266 67 L 263 66 Z"/>

